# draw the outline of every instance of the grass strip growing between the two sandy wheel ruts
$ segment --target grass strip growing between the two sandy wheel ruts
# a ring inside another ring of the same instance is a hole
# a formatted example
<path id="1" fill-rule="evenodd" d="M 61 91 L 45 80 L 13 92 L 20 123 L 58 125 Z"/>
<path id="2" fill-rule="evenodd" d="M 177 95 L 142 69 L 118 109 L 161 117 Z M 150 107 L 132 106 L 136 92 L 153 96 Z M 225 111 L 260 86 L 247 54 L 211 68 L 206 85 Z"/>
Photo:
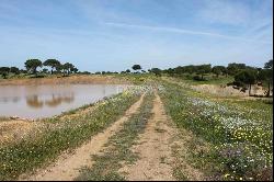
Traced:
<path id="1" fill-rule="evenodd" d="M 83 168 L 78 181 L 123 181 L 118 173 L 123 163 L 133 163 L 138 156 L 130 150 L 138 135 L 144 132 L 151 116 L 153 96 L 144 98 L 139 111 L 132 115 L 123 129 L 110 138 L 103 155 L 93 156 L 95 163 L 91 168 Z"/>

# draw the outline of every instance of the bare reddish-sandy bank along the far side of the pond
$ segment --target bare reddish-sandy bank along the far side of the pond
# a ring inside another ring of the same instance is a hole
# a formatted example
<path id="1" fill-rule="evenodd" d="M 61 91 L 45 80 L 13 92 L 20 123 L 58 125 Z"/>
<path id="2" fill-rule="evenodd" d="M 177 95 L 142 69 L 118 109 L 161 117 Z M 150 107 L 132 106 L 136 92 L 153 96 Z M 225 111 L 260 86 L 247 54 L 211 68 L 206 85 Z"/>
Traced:
<path id="1" fill-rule="evenodd" d="M 70 77 L 48 77 L 48 78 L 22 78 L 22 79 L 0 79 L 0 86 L 22 86 L 22 84 L 123 84 L 129 83 L 125 79 L 118 79 L 113 76 L 70 76 Z"/>

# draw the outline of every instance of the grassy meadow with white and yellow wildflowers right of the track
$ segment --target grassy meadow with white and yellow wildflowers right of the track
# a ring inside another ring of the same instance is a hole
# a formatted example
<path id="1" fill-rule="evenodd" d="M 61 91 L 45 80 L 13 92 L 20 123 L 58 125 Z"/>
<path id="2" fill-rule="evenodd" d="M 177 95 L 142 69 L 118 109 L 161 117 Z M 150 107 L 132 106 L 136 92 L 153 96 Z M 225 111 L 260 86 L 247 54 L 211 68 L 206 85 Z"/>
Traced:
<path id="1" fill-rule="evenodd" d="M 208 152 L 193 153 L 192 160 L 201 168 L 210 167 L 205 172 L 212 179 L 273 179 L 273 105 L 260 101 L 216 102 L 213 96 L 167 82 L 163 88 L 160 95 L 178 127 L 209 144 Z"/>

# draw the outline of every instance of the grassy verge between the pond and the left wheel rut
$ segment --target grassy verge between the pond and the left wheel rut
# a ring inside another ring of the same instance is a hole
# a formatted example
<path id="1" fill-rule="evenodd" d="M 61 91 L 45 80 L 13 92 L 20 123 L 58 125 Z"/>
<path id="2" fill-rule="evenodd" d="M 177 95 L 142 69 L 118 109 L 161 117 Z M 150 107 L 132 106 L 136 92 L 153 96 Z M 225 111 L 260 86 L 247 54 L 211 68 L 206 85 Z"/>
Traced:
<path id="1" fill-rule="evenodd" d="M 0 148 L 0 180 L 14 180 L 54 161 L 61 151 L 80 146 L 115 122 L 138 98 L 138 92 L 127 91 L 101 102 L 94 111 L 77 118 L 66 122 L 48 118 L 41 130 Z"/>

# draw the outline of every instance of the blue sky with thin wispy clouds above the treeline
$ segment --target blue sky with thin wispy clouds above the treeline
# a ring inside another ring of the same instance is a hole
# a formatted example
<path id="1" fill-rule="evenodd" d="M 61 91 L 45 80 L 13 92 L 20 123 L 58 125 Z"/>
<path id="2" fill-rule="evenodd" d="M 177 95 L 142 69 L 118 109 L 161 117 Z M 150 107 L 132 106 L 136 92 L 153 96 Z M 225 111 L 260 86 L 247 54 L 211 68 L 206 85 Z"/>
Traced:
<path id="1" fill-rule="evenodd" d="M 0 0 L 0 66 L 262 67 L 273 58 L 272 13 L 272 0 Z"/>

